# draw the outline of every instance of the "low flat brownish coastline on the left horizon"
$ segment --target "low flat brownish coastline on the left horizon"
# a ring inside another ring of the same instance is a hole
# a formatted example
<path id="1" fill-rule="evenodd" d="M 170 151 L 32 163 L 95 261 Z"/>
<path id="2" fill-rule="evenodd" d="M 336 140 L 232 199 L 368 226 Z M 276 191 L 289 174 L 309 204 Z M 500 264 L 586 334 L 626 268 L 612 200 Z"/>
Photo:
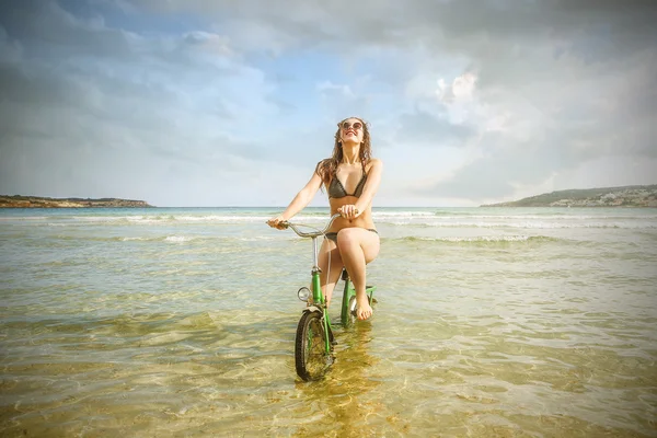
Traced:
<path id="1" fill-rule="evenodd" d="M 0 195 L 0 208 L 148 208 L 145 200 L 119 198 L 48 198 Z"/>

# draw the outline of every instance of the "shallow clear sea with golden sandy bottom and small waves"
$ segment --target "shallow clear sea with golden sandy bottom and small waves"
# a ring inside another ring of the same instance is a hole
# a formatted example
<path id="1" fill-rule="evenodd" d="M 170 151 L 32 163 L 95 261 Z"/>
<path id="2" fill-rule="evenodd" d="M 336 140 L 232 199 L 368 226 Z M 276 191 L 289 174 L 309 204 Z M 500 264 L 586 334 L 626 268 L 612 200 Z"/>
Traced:
<path id="1" fill-rule="evenodd" d="M 313 382 L 279 211 L 1 210 L 0 436 L 657 437 L 657 209 L 374 208 Z"/>

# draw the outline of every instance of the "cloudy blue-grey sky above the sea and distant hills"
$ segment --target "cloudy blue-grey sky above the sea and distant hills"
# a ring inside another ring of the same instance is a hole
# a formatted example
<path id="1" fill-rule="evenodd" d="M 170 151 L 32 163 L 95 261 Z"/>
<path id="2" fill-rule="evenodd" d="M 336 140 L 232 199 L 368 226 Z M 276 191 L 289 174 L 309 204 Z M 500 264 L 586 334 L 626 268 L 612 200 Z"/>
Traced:
<path id="1" fill-rule="evenodd" d="M 0 194 L 287 206 L 350 116 L 374 206 L 656 184 L 656 22 L 653 0 L 3 1 Z"/>

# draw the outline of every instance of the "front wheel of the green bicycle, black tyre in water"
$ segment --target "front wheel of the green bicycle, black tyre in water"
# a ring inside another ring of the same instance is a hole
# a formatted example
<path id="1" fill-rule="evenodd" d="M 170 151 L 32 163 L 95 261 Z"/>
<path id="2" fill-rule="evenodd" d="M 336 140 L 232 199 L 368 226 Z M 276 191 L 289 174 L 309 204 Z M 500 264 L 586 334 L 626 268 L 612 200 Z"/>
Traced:
<path id="1" fill-rule="evenodd" d="M 295 365 L 304 381 L 324 376 L 333 358 L 326 351 L 324 324 L 320 312 L 304 312 L 297 326 Z"/>

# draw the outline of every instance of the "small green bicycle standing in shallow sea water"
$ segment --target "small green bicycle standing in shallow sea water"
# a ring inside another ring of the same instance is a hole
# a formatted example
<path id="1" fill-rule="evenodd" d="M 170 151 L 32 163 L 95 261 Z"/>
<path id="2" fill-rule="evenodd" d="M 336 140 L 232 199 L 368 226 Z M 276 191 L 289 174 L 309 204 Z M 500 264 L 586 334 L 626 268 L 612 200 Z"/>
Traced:
<path id="1" fill-rule="evenodd" d="M 324 235 L 333 221 L 339 216 L 339 214 L 333 215 L 323 230 L 315 229 L 312 232 L 302 232 L 299 230 L 299 227 L 312 228 L 310 226 L 291 222 L 283 223 L 284 227 L 291 228 L 299 237 L 312 239 L 312 291 L 308 287 L 301 287 L 297 291 L 299 299 L 308 303 L 297 325 L 297 337 L 295 341 L 295 366 L 297 374 L 304 381 L 321 379 L 335 359 L 333 347 L 337 343 L 333 336 L 331 319 L 327 314 L 324 295 L 320 285 L 321 269 L 318 266 L 318 238 Z M 354 289 L 354 285 L 345 268 L 342 272 L 342 279 L 345 287 L 341 306 L 341 323 L 343 327 L 347 327 L 356 321 L 356 289 Z M 366 293 L 370 304 L 376 289 L 374 286 L 366 286 Z"/>

